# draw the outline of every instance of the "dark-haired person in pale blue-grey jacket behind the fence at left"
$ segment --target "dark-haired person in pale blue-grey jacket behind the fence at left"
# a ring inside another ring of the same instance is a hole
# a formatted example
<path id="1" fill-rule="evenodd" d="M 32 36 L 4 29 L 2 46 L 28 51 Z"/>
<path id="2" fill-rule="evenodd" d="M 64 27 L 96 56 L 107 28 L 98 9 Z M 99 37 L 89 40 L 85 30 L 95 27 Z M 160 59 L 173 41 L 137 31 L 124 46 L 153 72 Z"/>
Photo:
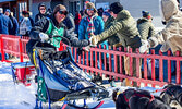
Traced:
<path id="1" fill-rule="evenodd" d="M 28 17 L 28 11 L 22 11 L 22 21 L 20 24 L 20 35 L 28 36 L 29 31 L 32 29 L 32 23 Z"/>

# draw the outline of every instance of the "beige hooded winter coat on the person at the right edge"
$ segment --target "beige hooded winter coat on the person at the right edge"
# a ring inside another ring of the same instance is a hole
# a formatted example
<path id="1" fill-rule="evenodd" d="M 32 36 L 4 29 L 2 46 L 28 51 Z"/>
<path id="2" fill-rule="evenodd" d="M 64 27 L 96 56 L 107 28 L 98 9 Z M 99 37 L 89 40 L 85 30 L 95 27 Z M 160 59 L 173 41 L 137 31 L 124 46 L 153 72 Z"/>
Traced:
<path id="1" fill-rule="evenodd" d="M 160 50 L 163 52 L 169 48 L 173 55 L 178 50 L 182 52 L 182 12 L 178 8 L 178 2 L 177 0 L 161 0 L 160 4 L 167 24 L 155 37 L 149 38 L 150 46 L 156 47 L 161 44 Z"/>

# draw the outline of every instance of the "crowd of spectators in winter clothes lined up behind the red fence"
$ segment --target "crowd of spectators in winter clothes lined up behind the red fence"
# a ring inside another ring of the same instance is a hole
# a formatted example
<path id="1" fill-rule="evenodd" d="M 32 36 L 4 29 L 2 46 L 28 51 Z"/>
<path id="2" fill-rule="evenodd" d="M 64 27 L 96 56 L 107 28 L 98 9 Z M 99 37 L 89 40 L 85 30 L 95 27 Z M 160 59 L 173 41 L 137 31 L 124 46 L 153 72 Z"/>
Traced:
<path id="1" fill-rule="evenodd" d="M 166 27 L 159 33 L 155 33 L 151 13 L 142 11 L 142 17 L 135 21 L 120 2 L 112 3 L 109 10 L 104 10 L 102 8 L 97 10 L 94 3 L 86 2 L 85 9 L 80 12 L 77 11 L 75 15 L 72 15 L 66 10 L 58 10 L 60 14 L 65 15 L 61 23 L 54 21 L 57 19 L 54 11 L 52 12 L 51 9 L 47 9 L 46 4 L 41 2 L 38 5 L 39 13 L 36 14 L 34 21 L 29 17 L 28 11 L 22 11 L 23 19 L 20 23 L 9 9 L 3 11 L 0 8 L 0 21 L 5 22 L 0 22 L 0 34 L 29 36 L 36 29 L 46 33 L 44 27 L 38 27 L 43 26 L 40 23 L 45 24 L 44 20 L 46 19 L 46 22 L 52 22 L 50 24 L 53 24 L 54 26 L 52 27 L 56 27 L 56 29 L 59 31 L 60 27 L 66 29 L 66 35 L 63 33 L 63 36 L 76 34 L 73 36 L 77 37 L 78 40 L 89 40 L 89 45 L 87 46 L 101 45 L 102 48 L 106 46 L 107 50 L 109 46 L 117 48 L 125 47 L 132 48 L 133 52 L 135 52 L 136 48 L 139 48 L 141 53 L 144 53 L 150 47 L 156 47 L 158 44 L 161 44 L 161 51 L 166 52 L 168 49 L 171 49 L 173 55 L 175 55 L 177 50 L 182 50 L 180 41 L 182 13 L 179 8 L 179 2 L 178 0 L 161 0 L 160 4 L 165 19 L 162 22 L 166 24 Z M 169 4 L 168 8 L 166 4 Z M 37 35 L 37 37 L 40 36 Z M 58 47 L 60 47 L 60 43 L 58 44 Z M 124 57 L 123 64 L 125 74 L 130 75 L 129 57 Z M 133 73 L 136 75 L 135 58 L 133 59 Z"/>

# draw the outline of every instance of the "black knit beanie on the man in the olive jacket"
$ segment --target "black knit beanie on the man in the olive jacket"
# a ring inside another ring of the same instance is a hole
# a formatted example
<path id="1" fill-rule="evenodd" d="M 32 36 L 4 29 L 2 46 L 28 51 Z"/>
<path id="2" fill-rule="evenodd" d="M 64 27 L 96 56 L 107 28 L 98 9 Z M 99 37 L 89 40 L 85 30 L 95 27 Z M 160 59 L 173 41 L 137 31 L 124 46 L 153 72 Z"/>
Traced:
<path id="1" fill-rule="evenodd" d="M 120 2 L 114 2 L 110 4 L 110 11 L 112 11 L 114 14 L 118 14 L 122 10 L 123 10 L 123 5 L 121 5 Z"/>

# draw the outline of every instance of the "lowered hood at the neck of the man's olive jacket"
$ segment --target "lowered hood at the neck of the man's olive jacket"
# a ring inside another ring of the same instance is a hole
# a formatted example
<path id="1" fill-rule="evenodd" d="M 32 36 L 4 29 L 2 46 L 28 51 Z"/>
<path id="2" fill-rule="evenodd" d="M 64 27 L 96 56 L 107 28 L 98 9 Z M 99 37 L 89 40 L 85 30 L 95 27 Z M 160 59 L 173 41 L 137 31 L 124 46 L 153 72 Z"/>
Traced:
<path id="1" fill-rule="evenodd" d="M 122 10 L 118 13 L 117 19 L 116 20 L 124 20 L 124 19 L 129 19 L 131 16 L 130 12 L 126 10 Z"/>

